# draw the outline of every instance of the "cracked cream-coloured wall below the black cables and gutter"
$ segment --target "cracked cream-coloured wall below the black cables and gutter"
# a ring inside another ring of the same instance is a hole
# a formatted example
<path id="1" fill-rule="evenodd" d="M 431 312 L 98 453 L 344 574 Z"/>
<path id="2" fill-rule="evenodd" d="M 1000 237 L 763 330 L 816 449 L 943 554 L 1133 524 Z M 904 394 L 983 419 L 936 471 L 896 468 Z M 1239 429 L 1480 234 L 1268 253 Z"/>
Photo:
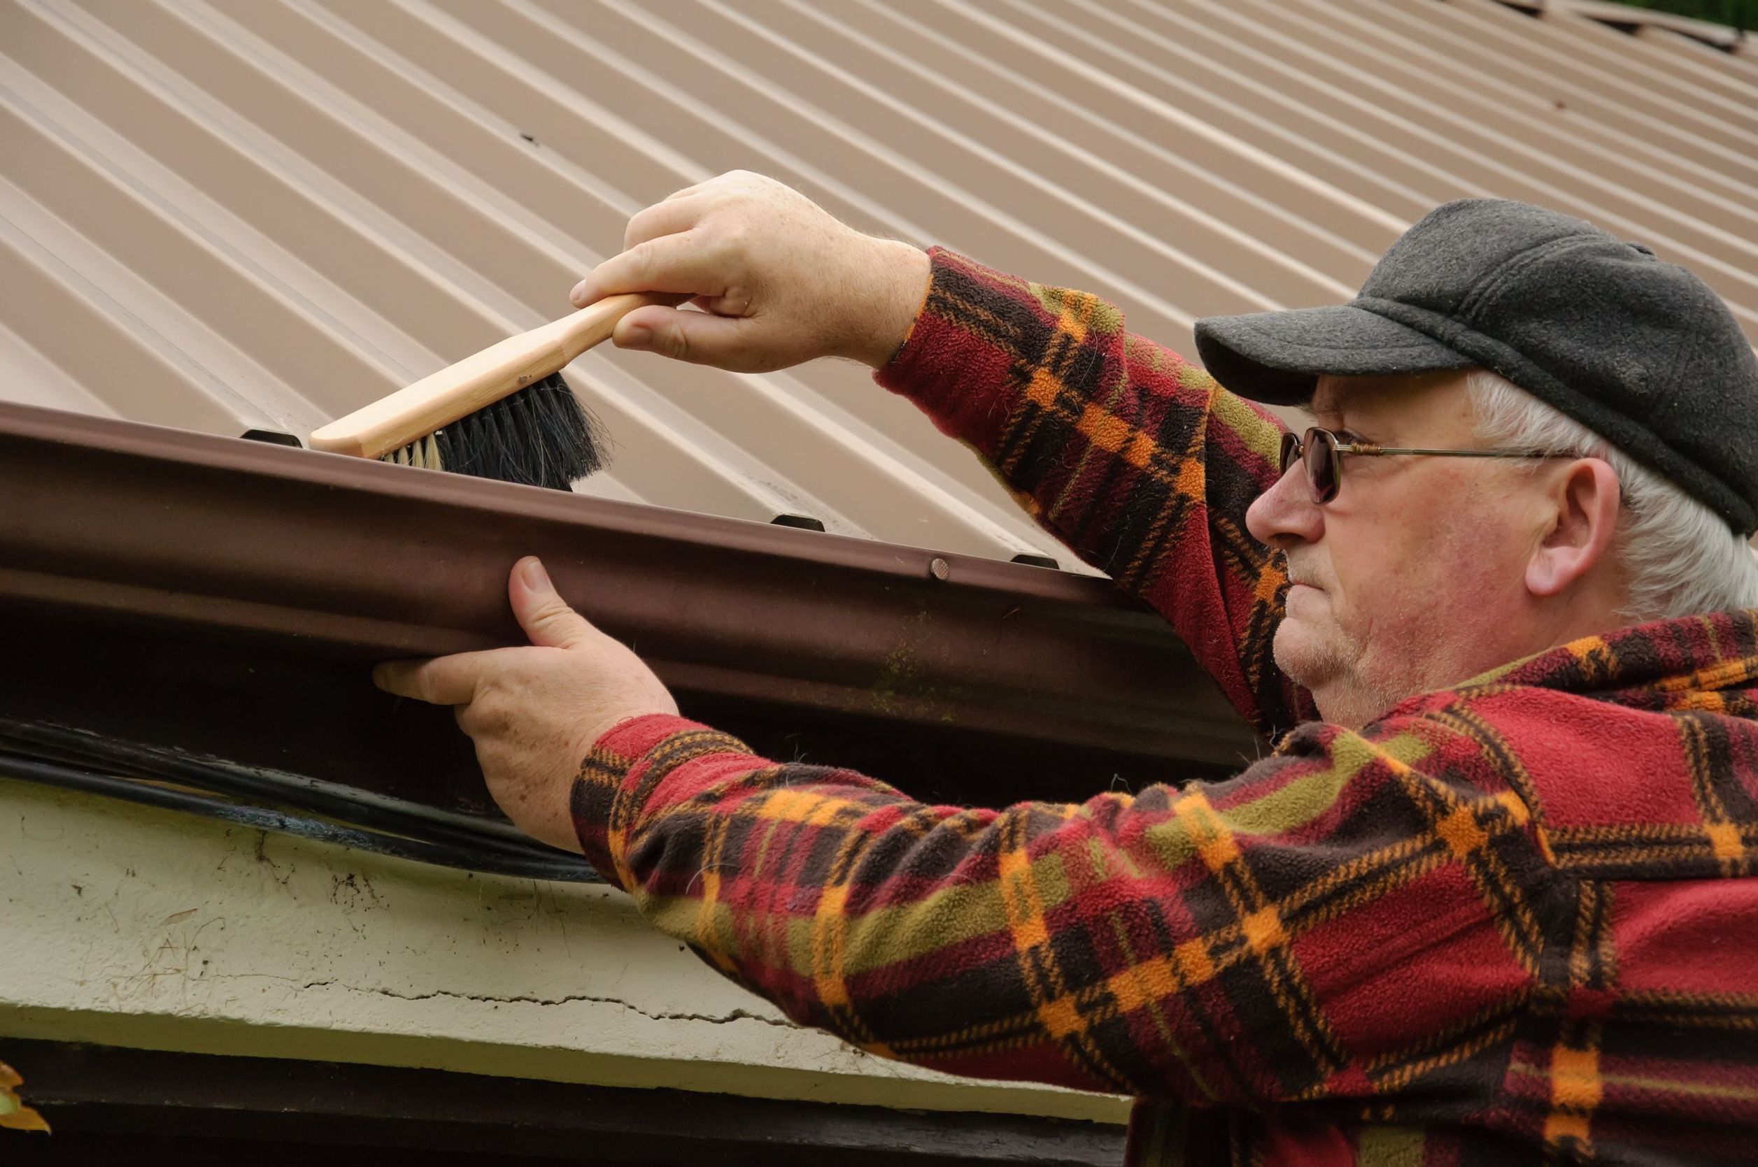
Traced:
<path id="1" fill-rule="evenodd" d="M 5 1037 L 1123 1121 L 800 1030 L 605 888 L 0 780 Z"/>

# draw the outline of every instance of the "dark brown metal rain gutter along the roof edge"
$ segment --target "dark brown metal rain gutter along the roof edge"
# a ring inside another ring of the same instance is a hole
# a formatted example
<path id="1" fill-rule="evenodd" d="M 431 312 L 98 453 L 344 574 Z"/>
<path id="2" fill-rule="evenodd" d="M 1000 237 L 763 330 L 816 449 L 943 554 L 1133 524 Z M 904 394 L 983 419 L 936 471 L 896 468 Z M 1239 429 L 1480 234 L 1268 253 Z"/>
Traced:
<path id="1" fill-rule="evenodd" d="M 526 554 L 686 692 L 1199 765 L 1252 749 L 1102 580 L 0 404 L 0 631 L 107 613 L 362 664 L 487 649 L 519 643 Z"/>

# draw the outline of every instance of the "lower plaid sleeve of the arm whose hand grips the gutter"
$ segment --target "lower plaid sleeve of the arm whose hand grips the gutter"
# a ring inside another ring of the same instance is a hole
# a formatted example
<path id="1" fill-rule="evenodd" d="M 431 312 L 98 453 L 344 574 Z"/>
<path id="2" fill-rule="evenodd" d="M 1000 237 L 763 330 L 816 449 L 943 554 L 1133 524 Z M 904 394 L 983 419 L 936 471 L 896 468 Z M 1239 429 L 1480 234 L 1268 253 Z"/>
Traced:
<path id="1" fill-rule="evenodd" d="M 1313 722 L 1227 782 L 972 810 L 654 715 L 573 812 L 652 924 L 872 1053 L 1391 1114 L 1494 1093 L 1538 972 L 1526 810 L 1429 777 L 1449 750 L 1482 759 L 1438 719 Z"/>

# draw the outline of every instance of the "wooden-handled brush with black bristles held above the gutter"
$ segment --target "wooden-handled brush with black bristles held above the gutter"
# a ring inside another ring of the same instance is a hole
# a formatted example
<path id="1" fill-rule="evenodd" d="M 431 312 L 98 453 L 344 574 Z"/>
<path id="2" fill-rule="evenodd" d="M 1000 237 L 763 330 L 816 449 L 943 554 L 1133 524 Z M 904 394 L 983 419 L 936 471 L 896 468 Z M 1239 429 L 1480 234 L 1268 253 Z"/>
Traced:
<path id="1" fill-rule="evenodd" d="M 677 301 L 608 295 L 311 431 L 311 448 L 568 490 L 603 453 L 559 369 L 636 308 Z"/>

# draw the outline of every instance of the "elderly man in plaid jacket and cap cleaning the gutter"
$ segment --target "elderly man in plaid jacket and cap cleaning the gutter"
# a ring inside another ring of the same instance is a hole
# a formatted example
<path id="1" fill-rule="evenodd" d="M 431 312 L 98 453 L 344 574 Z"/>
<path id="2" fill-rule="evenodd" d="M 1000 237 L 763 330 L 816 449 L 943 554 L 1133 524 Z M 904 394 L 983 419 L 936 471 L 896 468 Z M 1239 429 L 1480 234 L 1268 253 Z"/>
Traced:
<path id="1" fill-rule="evenodd" d="M 515 823 L 803 1025 L 1136 1095 L 1132 1163 L 1758 1155 L 1758 366 L 1696 278 L 1452 202 L 1347 306 L 1201 322 L 1202 373 L 731 174 L 575 302 L 624 290 L 707 309 L 624 348 L 877 367 L 1276 747 L 921 805 L 682 721 L 527 559 L 536 647 L 378 673 L 459 707 Z"/>

